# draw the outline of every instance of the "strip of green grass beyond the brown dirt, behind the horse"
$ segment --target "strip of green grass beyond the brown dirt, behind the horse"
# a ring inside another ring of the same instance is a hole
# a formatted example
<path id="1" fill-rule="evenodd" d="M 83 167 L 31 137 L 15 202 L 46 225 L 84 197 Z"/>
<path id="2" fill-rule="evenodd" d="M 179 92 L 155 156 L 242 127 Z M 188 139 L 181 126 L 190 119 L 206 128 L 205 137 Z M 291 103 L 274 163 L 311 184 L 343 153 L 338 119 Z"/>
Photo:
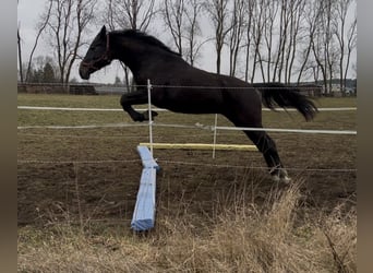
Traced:
<path id="1" fill-rule="evenodd" d="M 49 106 L 49 107 L 91 107 L 91 108 L 118 108 L 120 96 L 71 96 L 71 95 L 39 95 L 20 94 L 19 106 Z M 356 107 L 356 98 L 320 98 L 316 100 L 318 107 Z M 139 106 L 145 108 L 146 106 Z M 214 115 L 182 115 L 177 114 L 178 119 L 185 124 L 214 124 Z M 317 128 L 326 121 L 329 129 L 346 130 L 356 128 L 356 121 L 351 116 L 356 111 L 320 112 L 313 122 L 304 122 L 303 118 L 296 112 L 263 112 L 263 123 L 265 127 L 275 128 Z M 156 118 L 157 122 L 171 122 L 175 114 L 160 112 Z M 351 122 L 349 122 L 349 120 Z M 110 111 L 48 111 L 48 110 L 19 110 L 19 126 L 79 126 L 79 124 L 103 124 L 132 122 L 125 112 Z M 219 117 L 219 124 L 231 124 L 224 117 Z"/>

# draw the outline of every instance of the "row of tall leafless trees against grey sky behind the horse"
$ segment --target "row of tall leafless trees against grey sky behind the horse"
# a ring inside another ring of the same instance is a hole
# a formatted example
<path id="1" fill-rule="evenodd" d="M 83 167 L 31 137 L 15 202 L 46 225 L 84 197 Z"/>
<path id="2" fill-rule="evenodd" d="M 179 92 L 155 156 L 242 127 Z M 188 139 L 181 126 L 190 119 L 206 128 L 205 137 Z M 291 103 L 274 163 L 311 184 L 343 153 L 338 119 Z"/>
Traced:
<path id="1" fill-rule="evenodd" d="M 48 60 L 55 80 L 69 82 L 87 37 L 101 24 L 109 29 L 166 31 L 170 38 L 164 41 L 192 66 L 202 48 L 214 44 L 216 72 L 221 72 L 226 54 L 229 74 L 248 82 L 313 80 L 332 90 L 330 80 L 338 78 L 345 90 L 356 70 L 354 0 L 47 0 L 26 62 L 19 26 L 20 80 L 35 80 L 34 52 L 44 36 L 55 52 Z M 124 66 L 123 71 L 129 83 L 130 71 Z"/>

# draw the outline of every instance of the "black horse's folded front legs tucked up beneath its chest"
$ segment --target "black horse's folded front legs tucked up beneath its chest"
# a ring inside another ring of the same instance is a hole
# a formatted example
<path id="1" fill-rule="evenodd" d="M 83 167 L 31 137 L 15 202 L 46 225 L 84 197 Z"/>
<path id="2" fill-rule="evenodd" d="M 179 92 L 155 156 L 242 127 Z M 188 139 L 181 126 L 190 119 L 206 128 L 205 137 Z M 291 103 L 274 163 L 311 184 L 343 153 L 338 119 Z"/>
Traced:
<path id="1" fill-rule="evenodd" d="M 127 111 L 133 121 L 148 120 L 148 111 L 139 112 L 133 109 L 132 105 L 140 105 L 147 103 L 147 93 L 137 91 L 129 94 L 123 94 L 120 98 L 120 104 L 124 111 Z M 156 111 L 152 111 L 152 118 L 158 116 Z"/>

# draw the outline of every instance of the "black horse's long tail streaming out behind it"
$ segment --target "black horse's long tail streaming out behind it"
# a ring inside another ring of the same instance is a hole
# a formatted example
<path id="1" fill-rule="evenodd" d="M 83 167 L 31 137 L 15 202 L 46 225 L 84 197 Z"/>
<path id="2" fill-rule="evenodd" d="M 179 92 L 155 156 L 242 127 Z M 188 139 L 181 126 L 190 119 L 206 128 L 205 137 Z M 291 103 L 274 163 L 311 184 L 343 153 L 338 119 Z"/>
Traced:
<path id="1" fill-rule="evenodd" d="M 254 87 L 261 91 L 263 105 L 269 109 L 274 109 L 276 105 L 282 108 L 294 107 L 306 121 L 313 119 L 317 112 L 313 102 L 300 94 L 298 88 L 282 83 L 254 83 Z"/>

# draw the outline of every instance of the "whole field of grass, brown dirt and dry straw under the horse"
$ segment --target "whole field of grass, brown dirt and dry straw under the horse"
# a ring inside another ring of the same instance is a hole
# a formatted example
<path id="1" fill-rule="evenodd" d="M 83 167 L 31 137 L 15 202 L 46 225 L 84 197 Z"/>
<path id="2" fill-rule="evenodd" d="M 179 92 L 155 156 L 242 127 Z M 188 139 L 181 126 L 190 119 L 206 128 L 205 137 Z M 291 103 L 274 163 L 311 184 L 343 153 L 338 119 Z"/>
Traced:
<path id="1" fill-rule="evenodd" d="M 119 108 L 119 96 L 17 100 Z M 263 123 L 357 130 L 356 117 L 321 111 L 305 122 L 296 112 L 264 111 Z M 159 112 L 154 140 L 212 143 L 213 132 L 195 124 L 214 118 Z M 142 170 L 136 145 L 148 141 L 148 128 L 133 124 L 121 111 L 19 109 L 20 272 L 356 272 L 356 135 L 269 133 L 293 179 L 289 187 L 270 180 L 257 152 L 217 151 L 213 158 L 212 151 L 156 150 L 157 226 L 136 235 L 130 230 Z M 218 124 L 230 126 L 221 116 Z M 217 143 L 251 144 L 239 131 L 218 131 Z"/>

